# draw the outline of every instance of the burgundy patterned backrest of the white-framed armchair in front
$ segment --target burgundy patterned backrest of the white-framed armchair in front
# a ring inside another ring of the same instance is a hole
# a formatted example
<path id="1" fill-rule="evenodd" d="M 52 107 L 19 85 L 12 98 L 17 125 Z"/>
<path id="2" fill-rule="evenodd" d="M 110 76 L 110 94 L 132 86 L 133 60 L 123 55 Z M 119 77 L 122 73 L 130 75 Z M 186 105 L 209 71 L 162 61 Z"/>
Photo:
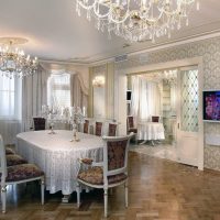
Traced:
<path id="1" fill-rule="evenodd" d="M 127 173 L 128 148 L 133 133 L 125 136 L 103 136 L 103 182 L 108 176 Z"/>

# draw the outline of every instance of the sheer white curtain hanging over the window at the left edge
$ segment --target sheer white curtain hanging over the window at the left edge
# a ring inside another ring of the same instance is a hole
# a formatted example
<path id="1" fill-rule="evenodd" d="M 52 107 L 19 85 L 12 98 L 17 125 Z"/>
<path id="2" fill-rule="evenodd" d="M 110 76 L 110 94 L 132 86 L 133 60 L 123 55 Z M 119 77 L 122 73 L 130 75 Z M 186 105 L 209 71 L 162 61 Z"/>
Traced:
<path id="1" fill-rule="evenodd" d="M 0 75 L 0 134 L 6 144 L 15 143 L 21 131 L 21 79 Z"/>

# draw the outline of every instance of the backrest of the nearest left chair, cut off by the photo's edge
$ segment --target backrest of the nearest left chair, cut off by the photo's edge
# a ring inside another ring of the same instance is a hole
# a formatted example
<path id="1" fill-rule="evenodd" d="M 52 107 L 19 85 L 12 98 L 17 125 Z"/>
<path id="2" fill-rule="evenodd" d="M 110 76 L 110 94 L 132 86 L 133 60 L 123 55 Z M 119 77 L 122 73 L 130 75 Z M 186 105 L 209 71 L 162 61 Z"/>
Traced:
<path id="1" fill-rule="evenodd" d="M 8 176 L 7 173 L 7 157 L 6 157 L 6 147 L 3 144 L 3 139 L 0 135 L 0 173 L 1 173 L 1 185 L 6 180 L 6 177 Z"/>

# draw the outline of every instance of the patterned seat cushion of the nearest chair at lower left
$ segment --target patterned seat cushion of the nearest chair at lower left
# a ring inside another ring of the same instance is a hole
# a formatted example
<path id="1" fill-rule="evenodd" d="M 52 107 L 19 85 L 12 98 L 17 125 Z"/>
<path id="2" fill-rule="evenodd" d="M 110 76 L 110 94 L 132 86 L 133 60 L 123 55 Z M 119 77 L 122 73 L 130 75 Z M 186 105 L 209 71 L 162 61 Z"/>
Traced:
<path id="1" fill-rule="evenodd" d="M 44 173 L 34 164 L 22 164 L 8 167 L 6 182 L 19 182 L 43 176 Z"/>

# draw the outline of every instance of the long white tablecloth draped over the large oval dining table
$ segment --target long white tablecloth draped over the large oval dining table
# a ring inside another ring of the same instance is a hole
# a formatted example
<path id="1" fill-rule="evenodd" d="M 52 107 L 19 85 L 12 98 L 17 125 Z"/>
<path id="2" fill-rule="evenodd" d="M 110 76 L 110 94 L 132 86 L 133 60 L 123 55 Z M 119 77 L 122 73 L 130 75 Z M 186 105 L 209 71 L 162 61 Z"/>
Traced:
<path id="1" fill-rule="evenodd" d="M 18 152 L 30 163 L 36 164 L 46 176 L 46 189 L 51 194 L 62 190 L 69 195 L 76 190 L 79 169 L 77 158 L 102 160 L 103 141 L 99 136 L 78 133 L 79 142 L 70 142 L 72 131 L 31 131 L 16 135 Z"/>

